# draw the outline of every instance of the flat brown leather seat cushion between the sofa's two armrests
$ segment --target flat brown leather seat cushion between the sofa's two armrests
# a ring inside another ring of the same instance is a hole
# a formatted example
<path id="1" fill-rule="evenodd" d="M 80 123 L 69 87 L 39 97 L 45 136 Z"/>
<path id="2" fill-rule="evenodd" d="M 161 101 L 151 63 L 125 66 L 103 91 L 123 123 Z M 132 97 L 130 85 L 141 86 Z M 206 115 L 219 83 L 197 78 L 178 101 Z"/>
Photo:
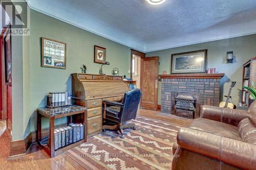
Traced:
<path id="1" fill-rule="evenodd" d="M 222 122 L 217 122 L 215 120 L 197 118 L 189 125 L 189 128 L 242 141 L 242 138 L 238 133 L 238 127 Z"/>

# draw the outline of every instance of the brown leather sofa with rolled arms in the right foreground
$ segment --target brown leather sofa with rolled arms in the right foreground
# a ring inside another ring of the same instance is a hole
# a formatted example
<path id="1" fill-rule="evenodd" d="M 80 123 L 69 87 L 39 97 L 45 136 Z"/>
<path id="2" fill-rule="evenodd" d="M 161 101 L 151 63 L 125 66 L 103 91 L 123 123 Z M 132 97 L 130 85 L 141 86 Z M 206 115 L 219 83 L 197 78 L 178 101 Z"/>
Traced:
<path id="1" fill-rule="evenodd" d="M 180 128 L 172 169 L 256 169 L 256 101 L 248 111 L 203 106 Z"/>

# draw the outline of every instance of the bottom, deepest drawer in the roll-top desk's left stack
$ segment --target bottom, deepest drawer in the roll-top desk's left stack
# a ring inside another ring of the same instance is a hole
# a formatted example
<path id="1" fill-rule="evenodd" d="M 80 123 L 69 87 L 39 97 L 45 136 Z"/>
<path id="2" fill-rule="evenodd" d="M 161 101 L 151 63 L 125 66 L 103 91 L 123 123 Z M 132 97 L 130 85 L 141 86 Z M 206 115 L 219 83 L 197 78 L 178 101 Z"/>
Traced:
<path id="1" fill-rule="evenodd" d="M 88 134 L 102 129 L 102 116 L 96 116 L 87 119 Z"/>

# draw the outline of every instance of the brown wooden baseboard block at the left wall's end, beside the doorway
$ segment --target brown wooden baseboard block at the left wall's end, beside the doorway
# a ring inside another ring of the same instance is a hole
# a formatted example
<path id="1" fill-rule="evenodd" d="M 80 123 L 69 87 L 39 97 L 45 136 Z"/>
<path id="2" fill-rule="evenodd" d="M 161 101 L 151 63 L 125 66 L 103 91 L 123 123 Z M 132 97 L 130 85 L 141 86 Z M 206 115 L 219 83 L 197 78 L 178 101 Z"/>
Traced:
<path id="1" fill-rule="evenodd" d="M 12 140 L 10 143 L 10 157 L 25 154 L 25 140 Z"/>

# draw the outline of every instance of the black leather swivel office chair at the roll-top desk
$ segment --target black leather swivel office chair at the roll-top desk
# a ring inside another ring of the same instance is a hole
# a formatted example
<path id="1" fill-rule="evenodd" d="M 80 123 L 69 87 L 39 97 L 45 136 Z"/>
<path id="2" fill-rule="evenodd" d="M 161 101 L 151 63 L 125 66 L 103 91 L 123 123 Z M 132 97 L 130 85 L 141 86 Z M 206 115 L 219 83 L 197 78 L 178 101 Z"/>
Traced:
<path id="1" fill-rule="evenodd" d="M 140 97 L 141 91 L 134 89 L 124 93 L 122 103 L 103 100 L 103 132 L 105 129 L 119 130 L 121 138 L 124 138 L 123 129 L 135 130 L 135 124 L 125 124 L 125 122 L 136 117 Z"/>

